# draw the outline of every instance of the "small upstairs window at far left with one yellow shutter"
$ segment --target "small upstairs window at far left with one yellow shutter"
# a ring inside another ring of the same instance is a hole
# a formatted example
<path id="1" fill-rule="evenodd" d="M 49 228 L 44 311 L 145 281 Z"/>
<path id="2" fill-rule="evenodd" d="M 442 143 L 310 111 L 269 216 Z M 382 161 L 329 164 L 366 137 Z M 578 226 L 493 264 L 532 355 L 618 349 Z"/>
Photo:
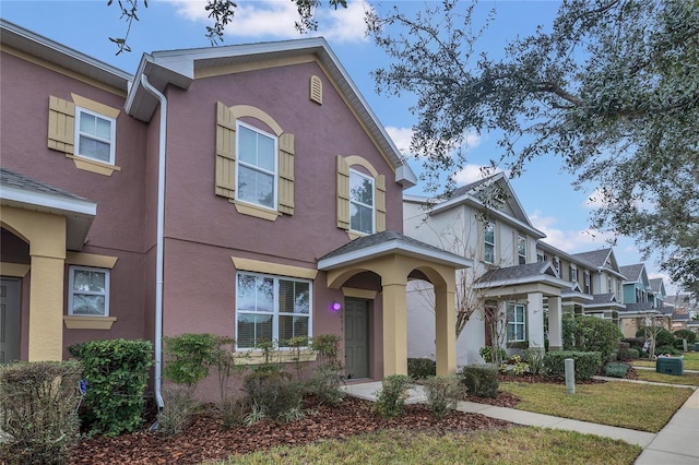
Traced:
<path id="1" fill-rule="evenodd" d="M 116 120 L 81 107 L 75 116 L 75 155 L 114 165 Z"/>

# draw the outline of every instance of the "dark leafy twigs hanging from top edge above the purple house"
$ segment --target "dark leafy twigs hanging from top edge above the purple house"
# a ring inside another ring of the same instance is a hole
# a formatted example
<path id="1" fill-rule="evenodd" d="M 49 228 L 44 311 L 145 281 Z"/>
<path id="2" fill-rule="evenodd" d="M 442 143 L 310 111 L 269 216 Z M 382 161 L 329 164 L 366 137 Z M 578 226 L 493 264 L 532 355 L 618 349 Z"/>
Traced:
<path id="1" fill-rule="evenodd" d="M 299 33 L 318 29 L 318 21 L 316 21 L 316 11 L 322 7 L 322 0 L 289 0 L 296 3 L 298 11 L 298 21 L 295 23 Z M 107 7 L 114 4 L 114 0 L 107 0 Z M 335 10 L 339 7 L 347 8 L 347 0 L 328 0 L 328 4 Z M 121 19 L 127 23 L 127 31 L 123 37 L 109 37 L 109 40 L 117 45 L 117 55 L 123 51 L 131 51 L 128 38 L 131 26 L 134 21 L 139 21 L 141 5 L 149 7 L 149 0 L 117 0 L 117 5 L 121 11 Z M 206 0 L 204 10 L 209 13 L 209 17 L 213 20 L 213 26 L 206 26 L 206 37 L 211 45 L 217 45 L 223 41 L 223 33 L 229 23 L 233 22 L 238 4 L 232 0 Z"/>

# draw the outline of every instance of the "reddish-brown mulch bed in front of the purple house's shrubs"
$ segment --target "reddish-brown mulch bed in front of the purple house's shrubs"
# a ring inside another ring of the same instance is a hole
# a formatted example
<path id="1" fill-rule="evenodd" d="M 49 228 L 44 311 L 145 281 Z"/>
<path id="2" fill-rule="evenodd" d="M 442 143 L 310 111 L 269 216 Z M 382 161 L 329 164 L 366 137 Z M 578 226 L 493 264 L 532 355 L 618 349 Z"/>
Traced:
<path id="1" fill-rule="evenodd" d="M 438 419 L 424 405 L 406 405 L 400 418 L 383 419 L 371 413 L 370 402 L 354 397 L 346 397 L 334 408 L 308 407 L 311 413 L 304 419 L 288 424 L 261 421 L 251 427 L 224 429 L 221 420 L 210 414 L 201 415 L 183 433 L 174 437 L 146 431 L 117 438 L 96 437 L 78 444 L 71 452 L 70 463 L 197 464 L 275 445 L 301 445 L 389 428 L 441 432 L 511 426 L 508 421 L 462 412 L 451 412 Z"/>

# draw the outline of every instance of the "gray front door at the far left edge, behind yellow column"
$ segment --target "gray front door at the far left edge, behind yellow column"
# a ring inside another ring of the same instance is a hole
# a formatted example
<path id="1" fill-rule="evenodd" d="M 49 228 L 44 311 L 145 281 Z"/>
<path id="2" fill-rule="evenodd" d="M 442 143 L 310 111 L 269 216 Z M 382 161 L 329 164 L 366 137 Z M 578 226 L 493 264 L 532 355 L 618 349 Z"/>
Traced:
<path id="1" fill-rule="evenodd" d="M 20 359 L 20 279 L 0 283 L 0 363 Z"/>

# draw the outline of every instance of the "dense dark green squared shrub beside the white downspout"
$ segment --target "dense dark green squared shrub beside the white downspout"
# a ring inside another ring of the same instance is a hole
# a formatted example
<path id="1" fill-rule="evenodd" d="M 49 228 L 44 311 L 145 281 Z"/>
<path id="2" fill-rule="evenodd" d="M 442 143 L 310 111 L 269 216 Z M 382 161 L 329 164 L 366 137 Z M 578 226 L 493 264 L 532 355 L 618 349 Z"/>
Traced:
<path id="1" fill-rule="evenodd" d="M 143 391 L 152 365 L 149 341 L 91 341 L 68 347 L 87 382 L 84 420 L 92 433 L 118 436 L 142 422 Z"/>

